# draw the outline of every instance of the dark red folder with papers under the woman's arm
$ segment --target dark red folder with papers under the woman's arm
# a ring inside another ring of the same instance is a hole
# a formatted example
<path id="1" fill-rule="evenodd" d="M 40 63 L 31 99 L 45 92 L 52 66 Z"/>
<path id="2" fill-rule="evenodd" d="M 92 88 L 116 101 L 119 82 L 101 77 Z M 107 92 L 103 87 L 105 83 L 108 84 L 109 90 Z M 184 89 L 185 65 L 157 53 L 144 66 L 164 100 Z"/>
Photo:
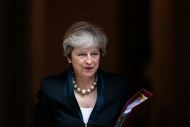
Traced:
<path id="1" fill-rule="evenodd" d="M 132 127 L 138 121 L 139 115 L 151 100 L 153 94 L 141 88 L 130 100 L 128 100 L 116 122 L 115 127 Z"/>

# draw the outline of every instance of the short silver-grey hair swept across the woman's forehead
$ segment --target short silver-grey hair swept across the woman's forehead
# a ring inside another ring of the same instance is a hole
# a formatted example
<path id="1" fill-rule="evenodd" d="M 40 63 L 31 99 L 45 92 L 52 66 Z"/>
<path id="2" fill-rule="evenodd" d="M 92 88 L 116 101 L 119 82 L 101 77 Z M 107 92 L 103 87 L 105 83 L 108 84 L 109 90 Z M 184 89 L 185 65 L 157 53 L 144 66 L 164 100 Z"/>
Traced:
<path id="1" fill-rule="evenodd" d="M 97 47 L 100 49 L 101 56 L 104 56 L 107 44 L 107 36 L 101 27 L 86 21 L 79 21 L 67 29 L 63 39 L 63 50 L 64 55 L 70 57 L 74 48 Z"/>

